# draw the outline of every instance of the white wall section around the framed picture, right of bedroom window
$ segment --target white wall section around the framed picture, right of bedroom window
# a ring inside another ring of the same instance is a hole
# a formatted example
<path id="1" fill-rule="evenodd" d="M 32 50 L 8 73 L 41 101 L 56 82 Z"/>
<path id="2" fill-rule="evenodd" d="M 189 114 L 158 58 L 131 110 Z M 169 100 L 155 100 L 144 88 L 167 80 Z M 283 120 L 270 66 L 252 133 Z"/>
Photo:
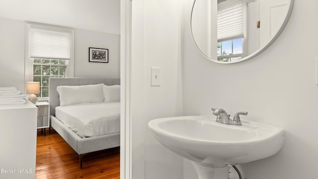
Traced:
<path id="1" fill-rule="evenodd" d="M 75 77 L 120 77 L 120 35 L 76 29 Z M 88 62 L 88 47 L 108 49 L 108 63 Z"/>

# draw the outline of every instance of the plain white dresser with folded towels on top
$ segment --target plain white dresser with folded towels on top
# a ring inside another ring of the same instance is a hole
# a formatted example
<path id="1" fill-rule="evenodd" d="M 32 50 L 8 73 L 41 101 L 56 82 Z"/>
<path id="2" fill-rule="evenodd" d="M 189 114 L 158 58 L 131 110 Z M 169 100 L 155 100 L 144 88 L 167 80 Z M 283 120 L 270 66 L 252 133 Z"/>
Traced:
<path id="1" fill-rule="evenodd" d="M 37 107 L 0 105 L 0 179 L 35 179 Z"/>

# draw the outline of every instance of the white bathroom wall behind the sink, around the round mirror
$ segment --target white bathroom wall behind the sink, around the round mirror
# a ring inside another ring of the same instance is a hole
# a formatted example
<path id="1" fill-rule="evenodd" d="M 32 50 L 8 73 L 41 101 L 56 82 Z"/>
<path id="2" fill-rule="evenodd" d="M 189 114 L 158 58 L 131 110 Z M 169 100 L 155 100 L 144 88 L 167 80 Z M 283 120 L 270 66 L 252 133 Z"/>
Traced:
<path id="1" fill-rule="evenodd" d="M 185 14 L 190 13 L 190 1 Z M 266 51 L 249 61 L 228 65 L 213 63 L 200 54 L 191 39 L 190 17 L 184 17 L 184 114 L 212 115 L 211 107 L 224 108 L 232 115 L 243 110 L 248 111 L 244 119 L 286 130 L 282 150 L 242 165 L 243 178 L 317 178 L 317 7 L 317 0 L 295 0 L 285 30 Z M 185 172 L 191 166 L 186 167 Z"/>

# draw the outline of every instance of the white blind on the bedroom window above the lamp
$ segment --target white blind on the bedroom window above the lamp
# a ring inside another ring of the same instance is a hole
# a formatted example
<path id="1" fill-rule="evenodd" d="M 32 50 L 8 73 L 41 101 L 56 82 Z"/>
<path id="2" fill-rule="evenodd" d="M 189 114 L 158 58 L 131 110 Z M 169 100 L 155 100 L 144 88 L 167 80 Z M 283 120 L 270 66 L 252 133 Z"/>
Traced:
<path id="1" fill-rule="evenodd" d="M 71 33 L 30 28 L 30 58 L 71 59 Z"/>

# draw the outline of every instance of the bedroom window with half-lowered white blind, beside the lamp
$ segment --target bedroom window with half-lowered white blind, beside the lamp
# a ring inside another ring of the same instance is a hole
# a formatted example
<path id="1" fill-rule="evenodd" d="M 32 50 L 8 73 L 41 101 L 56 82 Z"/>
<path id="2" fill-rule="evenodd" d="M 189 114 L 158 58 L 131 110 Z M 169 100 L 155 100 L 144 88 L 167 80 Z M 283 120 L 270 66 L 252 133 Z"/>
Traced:
<path id="1" fill-rule="evenodd" d="M 39 98 L 49 97 L 49 78 L 73 77 L 73 30 L 27 24 L 26 81 L 40 82 Z"/>

